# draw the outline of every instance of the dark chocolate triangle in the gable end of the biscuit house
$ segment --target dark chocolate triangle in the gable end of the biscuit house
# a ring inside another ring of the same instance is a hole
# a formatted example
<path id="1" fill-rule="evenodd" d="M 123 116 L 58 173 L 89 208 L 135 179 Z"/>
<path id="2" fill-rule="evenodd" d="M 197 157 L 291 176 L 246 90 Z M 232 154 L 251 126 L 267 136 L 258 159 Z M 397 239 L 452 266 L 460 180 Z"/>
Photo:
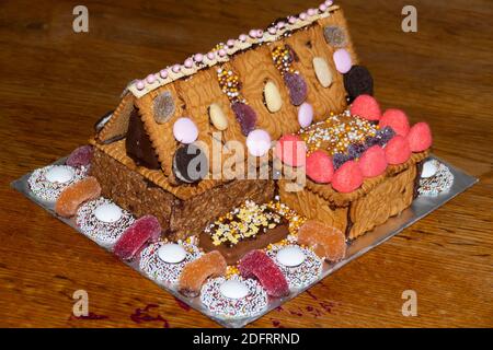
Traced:
<path id="1" fill-rule="evenodd" d="M 161 168 L 158 156 L 136 108 L 130 114 L 125 147 L 127 155 L 138 165 L 144 165 L 151 170 Z"/>

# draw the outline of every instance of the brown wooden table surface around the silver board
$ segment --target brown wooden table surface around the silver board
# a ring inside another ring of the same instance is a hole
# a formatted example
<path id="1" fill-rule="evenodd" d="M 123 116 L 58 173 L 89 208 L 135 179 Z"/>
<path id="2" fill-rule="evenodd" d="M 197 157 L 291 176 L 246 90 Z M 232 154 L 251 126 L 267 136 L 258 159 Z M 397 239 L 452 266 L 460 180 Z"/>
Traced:
<path id="1" fill-rule="evenodd" d="M 490 0 L 339 2 L 383 108 L 427 120 L 434 152 L 479 184 L 253 327 L 493 326 L 493 7 Z M 0 326 L 217 327 L 10 188 L 83 144 L 126 83 L 317 1 L 84 0 L 0 4 Z M 89 293 L 92 319 L 71 316 Z M 404 317 L 401 293 L 417 293 Z"/>

